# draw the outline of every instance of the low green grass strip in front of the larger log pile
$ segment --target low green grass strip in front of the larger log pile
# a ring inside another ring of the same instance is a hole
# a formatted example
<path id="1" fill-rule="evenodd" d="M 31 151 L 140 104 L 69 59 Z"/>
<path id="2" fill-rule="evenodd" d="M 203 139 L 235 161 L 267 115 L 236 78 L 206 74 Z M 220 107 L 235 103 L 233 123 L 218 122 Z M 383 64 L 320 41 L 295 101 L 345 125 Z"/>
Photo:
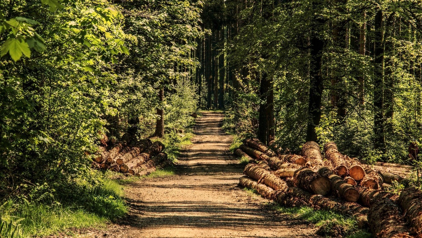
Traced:
<path id="1" fill-rule="evenodd" d="M 283 207 L 270 205 L 271 209 L 295 218 L 304 219 L 318 227 L 317 235 L 324 237 L 370 238 L 371 233 L 357 227 L 355 219 L 333 211 L 315 210 L 310 207 Z"/>

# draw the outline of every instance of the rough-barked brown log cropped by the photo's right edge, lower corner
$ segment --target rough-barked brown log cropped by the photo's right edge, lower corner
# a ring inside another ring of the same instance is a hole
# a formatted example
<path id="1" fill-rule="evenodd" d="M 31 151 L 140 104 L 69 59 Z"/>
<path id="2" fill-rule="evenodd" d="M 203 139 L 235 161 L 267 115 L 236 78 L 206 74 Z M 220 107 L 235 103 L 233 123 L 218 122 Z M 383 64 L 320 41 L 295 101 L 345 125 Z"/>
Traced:
<path id="1" fill-rule="evenodd" d="M 422 237 L 422 192 L 419 189 L 403 189 L 397 200 L 406 214 L 412 230 Z"/>

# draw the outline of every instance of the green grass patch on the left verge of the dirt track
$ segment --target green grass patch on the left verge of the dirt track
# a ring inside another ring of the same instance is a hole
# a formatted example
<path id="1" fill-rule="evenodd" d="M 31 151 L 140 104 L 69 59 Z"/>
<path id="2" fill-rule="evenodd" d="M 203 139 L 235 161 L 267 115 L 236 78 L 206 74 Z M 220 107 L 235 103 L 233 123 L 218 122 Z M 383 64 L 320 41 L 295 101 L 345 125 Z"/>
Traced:
<path id="1" fill-rule="evenodd" d="M 93 173 L 99 176 L 98 172 Z M 103 176 L 91 179 L 92 183 L 78 181 L 55 189 L 45 184 L 36 185 L 32 194 L 3 202 L 2 219 L 19 227 L 16 237 L 73 235 L 70 228 L 104 228 L 106 222 L 127 213 L 122 186 Z M 0 234 L 3 235 L 3 231 Z M 2 235 L 0 237 L 11 237 Z"/>

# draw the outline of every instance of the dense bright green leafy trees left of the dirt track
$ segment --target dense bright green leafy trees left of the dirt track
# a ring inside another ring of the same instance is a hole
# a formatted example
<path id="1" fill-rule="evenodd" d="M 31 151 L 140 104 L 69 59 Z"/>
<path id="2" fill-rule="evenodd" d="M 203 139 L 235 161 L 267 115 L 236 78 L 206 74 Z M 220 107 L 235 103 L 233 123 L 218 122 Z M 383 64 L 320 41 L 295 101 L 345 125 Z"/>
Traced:
<path id="1" fill-rule="evenodd" d="M 163 137 L 189 126 L 201 8 L 188 0 L 2 1 L 1 197 L 35 183 L 91 181 L 105 135 Z"/>

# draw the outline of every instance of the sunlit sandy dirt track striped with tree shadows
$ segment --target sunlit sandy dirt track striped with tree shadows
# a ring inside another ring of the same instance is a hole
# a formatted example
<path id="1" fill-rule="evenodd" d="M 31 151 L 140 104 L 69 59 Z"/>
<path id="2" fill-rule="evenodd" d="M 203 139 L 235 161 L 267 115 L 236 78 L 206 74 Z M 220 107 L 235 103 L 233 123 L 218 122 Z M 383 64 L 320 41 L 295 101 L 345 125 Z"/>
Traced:
<path id="1" fill-rule="evenodd" d="M 129 214 L 89 237 L 315 237 L 306 222 L 268 209 L 268 200 L 238 188 L 243 166 L 229 152 L 223 115 L 203 112 L 193 145 L 176 174 L 125 186 Z"/>

